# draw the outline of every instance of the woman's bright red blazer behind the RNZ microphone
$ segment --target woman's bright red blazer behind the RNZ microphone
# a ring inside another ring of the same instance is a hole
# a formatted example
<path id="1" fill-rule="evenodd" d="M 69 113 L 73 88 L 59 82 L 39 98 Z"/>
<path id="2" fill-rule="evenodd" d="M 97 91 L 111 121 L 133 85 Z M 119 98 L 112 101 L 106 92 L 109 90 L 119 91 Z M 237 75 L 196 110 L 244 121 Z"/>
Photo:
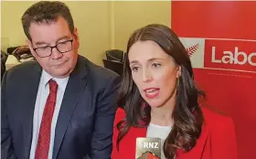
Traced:
<path id="1" fill-rule="evenodd" d="M 231 118 L 202 108 L 205 122 L 196 146 L 188 153 L 177 151 L 176 159 L 237 159 L 237 144 L 234 123 Z M 116 111 L 114 125 L 125 117 L 123 109 Z M 134 159 L 137 137 L 146 136 L 146 128 L 132 127 L 116 149 L 118 130 L 113 129 L 112 159 Z"/>

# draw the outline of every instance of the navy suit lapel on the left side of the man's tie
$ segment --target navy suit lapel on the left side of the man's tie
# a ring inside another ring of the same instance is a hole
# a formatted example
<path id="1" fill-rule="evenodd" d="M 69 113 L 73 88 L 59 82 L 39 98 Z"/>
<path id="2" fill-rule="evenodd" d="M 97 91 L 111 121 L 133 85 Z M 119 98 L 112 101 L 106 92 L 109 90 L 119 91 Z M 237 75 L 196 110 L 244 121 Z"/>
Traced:
<path id="1" fill-rule="evenodd" d="M 34 70 L 33 70 L 34 69 Z M 27 78 L 27 88 L 29 91 L 25 91 L 24 102 L 22 104 L 26 104 L 26 109 L 23 109 L 23 138 L 24 138 L 24 152 L 25 158 L 29 158 L 31 142 L 32 142 L 32 132 L 33 132 L 33 118 L 34 118 L 34 109 L 37 100 L 37 90 L 40 82 L 42 69 L 38 64 L 31 69 L 31 76 Z M 33 73 L 32 73 L 33 72 Z M 36 73 L 34 73 L 36 72 Z M 27 89 L 25 88 L 25 89 Z M 22 145 L 21 145 L 22 146 Z"/>

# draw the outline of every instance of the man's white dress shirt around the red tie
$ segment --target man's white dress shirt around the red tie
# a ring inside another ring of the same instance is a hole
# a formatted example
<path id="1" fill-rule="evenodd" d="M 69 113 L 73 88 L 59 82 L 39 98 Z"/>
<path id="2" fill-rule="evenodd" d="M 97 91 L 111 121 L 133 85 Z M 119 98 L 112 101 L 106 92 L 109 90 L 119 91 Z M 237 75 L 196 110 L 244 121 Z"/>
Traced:
<path id="1" fill-rule="evenodd" d="M 40 124 L 42 121 L 45 104 L 49 94 L 48 80 L 51 80 L 51 79 L 55 80 L 58 83 L 56 106 L 55 106 L 55 110 L 54 110 L 52 122 L 51 122 L 50 143 L 49 143 L 49 151 L 48 151 L 48 159 L 52 158 L 56 123 L 58 120 L 60 105 L 63 99 L 64 92 L 66 90 L 66 86 L 69 81 L 69 77 L 65 79 L 52 78 L 45 70 L 43 70 L 41 74 L 41 79 L 39 82 L 39 87 L 37 90 L 37 100 L 36 100 L 35 111 L 34 111 L 33 137 L 32 137 L 31 149 L 30 149 L 30 159 L 35 159 L 38 134 L 40 131 Z"/>

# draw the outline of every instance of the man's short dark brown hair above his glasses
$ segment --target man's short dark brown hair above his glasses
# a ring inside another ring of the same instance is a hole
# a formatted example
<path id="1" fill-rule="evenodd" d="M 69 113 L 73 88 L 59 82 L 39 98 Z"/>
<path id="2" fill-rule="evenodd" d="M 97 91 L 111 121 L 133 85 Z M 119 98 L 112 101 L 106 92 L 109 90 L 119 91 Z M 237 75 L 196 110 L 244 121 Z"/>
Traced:
<path id="1" fill-rule="evenodd" d="M 31 5 L 21 19 L 27 38 L 31 40 L 28 31 L 31 23 L 48 24 L 56 22 L 59 16 L 63 17 L 67 21 L 69 30 L 71 33 L 73 33 L 74 22 L 70 14 L 69 7 L 66 4 L 59 1 L 40 1 L 34 5 Z"/>

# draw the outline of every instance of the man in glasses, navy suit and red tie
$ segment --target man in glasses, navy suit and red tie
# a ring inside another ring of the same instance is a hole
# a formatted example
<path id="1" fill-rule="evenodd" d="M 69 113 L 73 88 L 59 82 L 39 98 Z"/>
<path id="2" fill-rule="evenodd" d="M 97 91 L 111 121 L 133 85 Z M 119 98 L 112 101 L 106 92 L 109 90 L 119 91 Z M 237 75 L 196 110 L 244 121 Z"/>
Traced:
<path id="1" fill-rule="evenodd" d="M 111 158 L 118 75 L 78 55 L 64 3 L 38 2 L 22 24 L 37 61 L 5 73 L 1 158 Z"/>

